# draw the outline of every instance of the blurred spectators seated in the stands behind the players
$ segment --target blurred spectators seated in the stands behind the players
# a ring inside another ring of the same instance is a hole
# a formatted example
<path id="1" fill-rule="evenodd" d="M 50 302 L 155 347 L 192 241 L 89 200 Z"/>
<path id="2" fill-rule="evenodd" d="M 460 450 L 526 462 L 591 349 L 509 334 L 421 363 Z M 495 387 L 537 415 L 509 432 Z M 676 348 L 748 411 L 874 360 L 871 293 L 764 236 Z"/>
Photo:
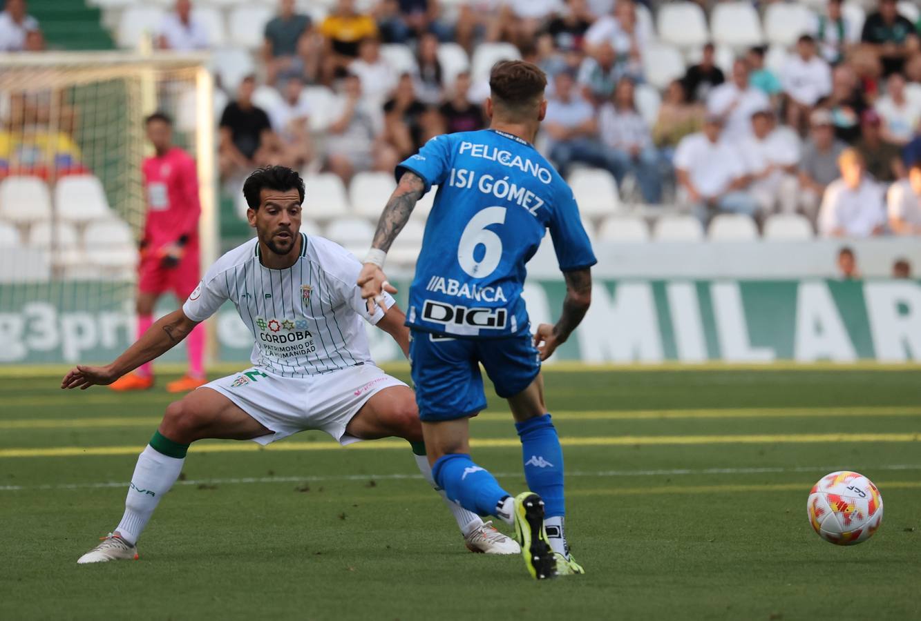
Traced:
<path id="1" fill-rule="evenodd" d="M 472 54 L 503 41 L 548 75 L 537 146 L 564 175 L 602 168 L 628 199 L 678 204 L 704 222 L 717 213 L 758 221 L 803 213 L 822 236 L 921 235 L 921 17 L 913 23 L 895 0 L 867 0 L 860 28 L 841 0 L 812 3 L 821 8 L 782 63 L 768 63 L 764 46 L 738 46 L 730 62 L 720 62 L 712 43 L 685 50 L 695 61 L 662 85 L 660 104 L 640 90 L 651 87 L 647 54 L 659 36 L 652 16 L 669 3 L 449 4 L 335 0 L 314 21 L 294 0 L 280 0 L 264 26 L 258 70 L 218 85 L 231 98 L 219 121 L 228 187 L 270 163 L 348 183 L 357 172 L 390 172 L 439 133 L 484 127 L 488 85 L 449 74 L 439 45 Z M 712 11 L 719 3 L 698 4 Z M 754 3 L 763 13 L 772 4 Z M 40 46 L 39 24 L 25 9 L 24 0 L 7 0 L 0 49 L 30 49 L 30 36 Z M 176 1 L 155 42 L 212 47 L 192 0 Z M 412 71 L 382 52 L 391 44 L 412 52 Z M 262 109 L 254 93 L 265 86 L 278 96 Z M 312 109 L 308 86 L 338 98 Z M 310 123 L 316 114 L 330 116 L 320 131 Z"/>

